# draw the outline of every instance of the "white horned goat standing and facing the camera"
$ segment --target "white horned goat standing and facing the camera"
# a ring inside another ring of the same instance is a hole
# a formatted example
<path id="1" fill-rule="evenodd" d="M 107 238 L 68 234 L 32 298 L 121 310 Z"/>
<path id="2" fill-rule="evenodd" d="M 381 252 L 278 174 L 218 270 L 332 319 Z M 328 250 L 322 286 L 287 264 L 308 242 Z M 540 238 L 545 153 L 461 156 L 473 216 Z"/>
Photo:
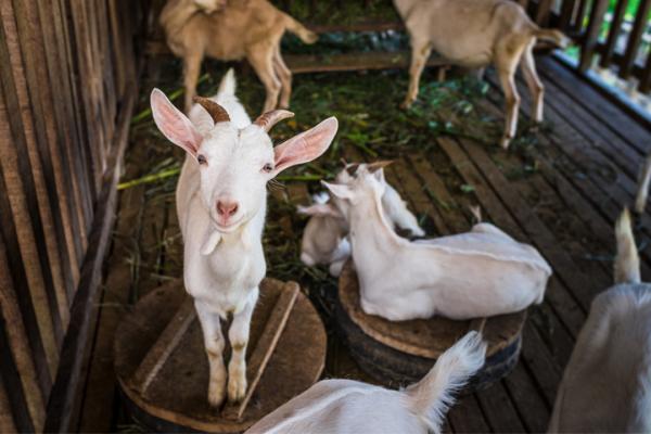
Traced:
<path id="1" fill-rule="evenodd" d="M 209 361 L 208 401 L 225 398 L 227 372 L 219 320 L 232 314 L 228 398 L 246 392 L 245 354 L 258 284 L 266 272 L 261 233 L 267 182 L 280 171 L 321 155 L 337 129 L 334 117 L 273 148 L 269 129 L 293 114 L 273 111 L 253 124 L 234 95 L 229 72 L 212 99 L 199 98 L 190 120 L 158 89 L 151 95 L 154 120 L 187 152 L 177 187 L 184 242 L 183 279 L 204 333 Z"/>

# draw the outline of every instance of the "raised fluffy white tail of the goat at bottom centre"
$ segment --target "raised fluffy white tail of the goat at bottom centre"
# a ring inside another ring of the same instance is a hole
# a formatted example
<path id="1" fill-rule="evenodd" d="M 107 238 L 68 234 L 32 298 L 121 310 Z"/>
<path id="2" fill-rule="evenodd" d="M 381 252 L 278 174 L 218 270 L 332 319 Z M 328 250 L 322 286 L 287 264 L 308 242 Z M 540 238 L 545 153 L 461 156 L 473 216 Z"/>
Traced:
<path id="1" fill-rule="evenodd" d="M 420 382 L 406 391 L 410 408 L 431 431 L 441 432 L 445 413 L 455 401 L 454 393 L 484 366 L 485 356 L 482 335 L 469 332 L 436 360 Z"/>

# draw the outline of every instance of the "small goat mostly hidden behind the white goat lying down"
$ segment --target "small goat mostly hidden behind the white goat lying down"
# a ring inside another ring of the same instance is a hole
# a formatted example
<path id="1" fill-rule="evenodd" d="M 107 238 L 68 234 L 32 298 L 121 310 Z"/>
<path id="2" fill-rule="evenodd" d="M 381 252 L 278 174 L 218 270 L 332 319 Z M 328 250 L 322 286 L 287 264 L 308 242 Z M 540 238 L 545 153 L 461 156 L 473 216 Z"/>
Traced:
<path id="1" fill-rule="evenodd" d="M 346 164 L 335 181 L 346 183 L 353 179 L 352 170 L 363 167 L 376 170 L 390 162 L 371 164 Z M 345 261 L 350 256 L 350 244 L 347 239 L 348 225 L 337 206 L 339 200 L 330 202 L 316 201 L 310 206 L 298 206 L 298 213 L 311 216 L 303 231 L 301 243 L 301 260 L 307 266 L 330 264 L 330 275 L 339 277 Z M 423 237 L 425 232 L 418 225 L 416 216 L 409 212 L 400 194 L 386 182 L 382 195 L 382 206 L 392 228 L 408 230 L 414 237 Z"/>

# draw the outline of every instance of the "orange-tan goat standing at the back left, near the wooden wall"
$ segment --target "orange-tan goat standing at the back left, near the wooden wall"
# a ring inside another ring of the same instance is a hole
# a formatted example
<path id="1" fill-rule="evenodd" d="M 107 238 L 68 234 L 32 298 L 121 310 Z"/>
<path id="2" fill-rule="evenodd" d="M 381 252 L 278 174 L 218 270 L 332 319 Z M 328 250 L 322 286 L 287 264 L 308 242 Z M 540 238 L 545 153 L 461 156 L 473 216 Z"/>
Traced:
<path id="1" fill-rule="evenodd" d="M 263 112 L 288 107 L 292 73 L 280 54 L 280 40 L 285 30 L 306 43 L 317 40 L 316 34 L 267 0 L 168 0 L 161 25 L 169 49 L 183 59 L 186 112 L 206 55 L 221 61 L 246 58 L 267 91 Z"/>

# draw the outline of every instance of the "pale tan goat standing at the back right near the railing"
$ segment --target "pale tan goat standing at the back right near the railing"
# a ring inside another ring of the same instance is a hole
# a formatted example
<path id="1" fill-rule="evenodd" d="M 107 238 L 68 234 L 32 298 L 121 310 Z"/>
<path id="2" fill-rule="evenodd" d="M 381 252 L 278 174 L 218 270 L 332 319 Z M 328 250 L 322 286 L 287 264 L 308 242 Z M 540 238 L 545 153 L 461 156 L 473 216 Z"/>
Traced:
<path id="1" fill-rule="evenodd" d="M 404 106 L 418 97 L 423 67 L 432 49 L 446 60 L 465 67 L 493 64 L 505 92 L 507 116 L 501 146 L 507 149 L 518 129 L 520 95 L 515 69 L 522 67 L 534 101 L 533 118 L 542 122 L 545 88 L 534 61 L 536 39 L 565 47 L 559 30 L 539 28 L 524 9 L 506 0 L 394 0 L 405 21 L 411 43 L 409 90 Z"/>

